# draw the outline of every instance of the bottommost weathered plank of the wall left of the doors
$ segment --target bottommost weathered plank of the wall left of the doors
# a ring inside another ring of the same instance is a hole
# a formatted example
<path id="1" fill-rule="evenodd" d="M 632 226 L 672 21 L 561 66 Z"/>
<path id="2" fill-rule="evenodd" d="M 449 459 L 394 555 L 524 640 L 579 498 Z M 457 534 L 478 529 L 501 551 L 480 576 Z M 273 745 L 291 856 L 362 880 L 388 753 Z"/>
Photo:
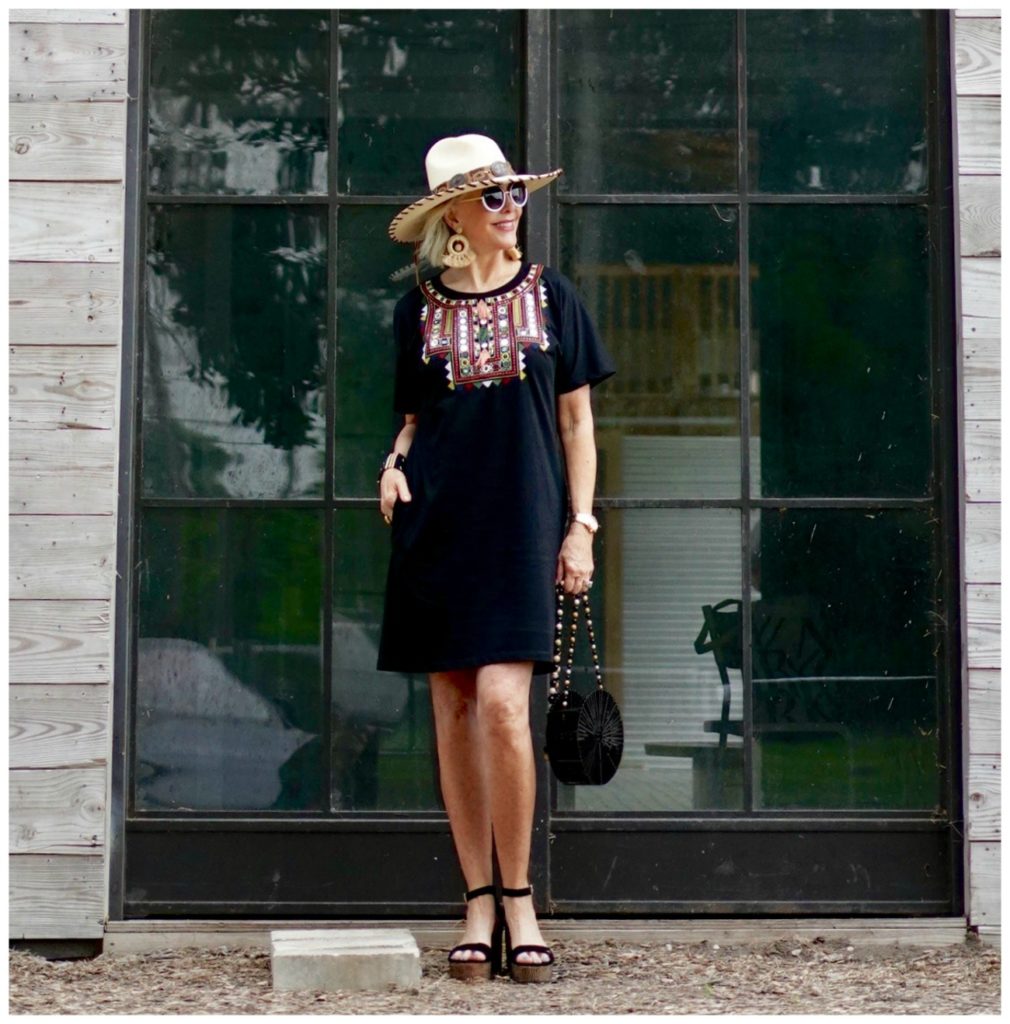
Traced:
<path id="1" fill-rule="evenodd" d="M 107 916 L 100 854 L 17 854 L 8 859 L 11 939 L 98 939 Z"/>

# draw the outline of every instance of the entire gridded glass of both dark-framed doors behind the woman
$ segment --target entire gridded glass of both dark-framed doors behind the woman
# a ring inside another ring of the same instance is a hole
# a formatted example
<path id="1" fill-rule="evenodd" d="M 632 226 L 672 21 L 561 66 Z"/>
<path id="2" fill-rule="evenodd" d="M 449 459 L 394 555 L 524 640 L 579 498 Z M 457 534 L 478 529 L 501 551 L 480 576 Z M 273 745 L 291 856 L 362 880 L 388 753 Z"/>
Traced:
<path id="1" fill-rule="evenodd" d="M 440 808 L 426 680 L 375 670 L 375 472 L 413 284 L 386 227 L 464 131 L 564 168 L 524 249 L 618 365 L 593 601 L 625 758 L 558 818 L 936 805 L 924 12 L 148 25 L 132 810 Z"/>

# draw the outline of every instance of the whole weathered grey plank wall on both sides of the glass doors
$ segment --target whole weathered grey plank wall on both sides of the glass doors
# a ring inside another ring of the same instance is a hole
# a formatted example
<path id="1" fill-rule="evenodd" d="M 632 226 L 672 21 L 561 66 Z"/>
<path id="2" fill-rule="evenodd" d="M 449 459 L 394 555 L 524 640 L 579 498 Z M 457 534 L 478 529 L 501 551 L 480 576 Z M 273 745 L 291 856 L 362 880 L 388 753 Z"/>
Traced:
<path id="1" fill-rule="evenodd" d="M 10 10 L 10 937 L 108 912 L 126 10 Z M 958 10 L 969 920 L 1000 929 L 1000 18 Z"/>

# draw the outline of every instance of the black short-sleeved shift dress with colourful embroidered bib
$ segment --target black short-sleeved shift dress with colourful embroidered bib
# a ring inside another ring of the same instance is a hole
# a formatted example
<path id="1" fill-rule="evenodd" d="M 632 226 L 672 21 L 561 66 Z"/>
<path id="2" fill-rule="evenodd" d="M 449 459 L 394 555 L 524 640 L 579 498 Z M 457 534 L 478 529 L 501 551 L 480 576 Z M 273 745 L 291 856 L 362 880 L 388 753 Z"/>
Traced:
<path id="1" fill-rule="evenodd" d="M 393 506 L 378 668 L 553 669 L 567 518 L 557 395 L 614 364 L 572 283 L 522 263 L 473 295 L 423 282 L 393 313 L 397 413 L 417 416 Z"/>

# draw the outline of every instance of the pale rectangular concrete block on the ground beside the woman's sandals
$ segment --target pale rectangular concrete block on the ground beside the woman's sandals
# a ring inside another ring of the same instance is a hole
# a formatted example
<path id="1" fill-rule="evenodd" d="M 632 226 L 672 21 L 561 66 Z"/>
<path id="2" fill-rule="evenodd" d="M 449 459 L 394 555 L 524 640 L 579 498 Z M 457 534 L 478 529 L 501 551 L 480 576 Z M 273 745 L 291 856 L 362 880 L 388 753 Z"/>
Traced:
<path id="1" fill-rule="evenodd" d="M 278 991 L 417 988 L 421 950 L 398 928 L 275 930 L 270 977 Z"/>

